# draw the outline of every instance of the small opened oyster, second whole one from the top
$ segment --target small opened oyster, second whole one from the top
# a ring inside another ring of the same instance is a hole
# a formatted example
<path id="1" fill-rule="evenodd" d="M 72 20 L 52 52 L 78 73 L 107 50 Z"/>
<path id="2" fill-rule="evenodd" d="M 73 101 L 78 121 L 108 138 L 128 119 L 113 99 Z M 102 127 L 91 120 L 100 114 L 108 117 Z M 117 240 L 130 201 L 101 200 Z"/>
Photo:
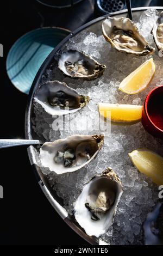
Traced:
<path id="1" fill-rule="evenodd" d="M 106 69 L 91 56 L 74 50 L 62 53 L 58 67 L 67 76 L 86 79 L 97 78 Z"/>

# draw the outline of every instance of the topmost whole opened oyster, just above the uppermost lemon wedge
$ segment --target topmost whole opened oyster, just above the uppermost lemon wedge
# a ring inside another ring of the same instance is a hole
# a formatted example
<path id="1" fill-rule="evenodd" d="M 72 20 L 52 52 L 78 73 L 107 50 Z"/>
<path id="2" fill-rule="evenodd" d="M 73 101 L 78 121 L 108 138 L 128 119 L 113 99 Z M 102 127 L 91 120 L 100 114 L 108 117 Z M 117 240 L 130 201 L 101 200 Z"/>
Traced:
<path id="1" fill-rule="evenodd" d="M 106 41 L 117 51 L 139 56 L 154 52 L 154 48 L 139 33 L 135 23 L 126 17 L 107 17 L 102 24 L 102 30 Z"/>

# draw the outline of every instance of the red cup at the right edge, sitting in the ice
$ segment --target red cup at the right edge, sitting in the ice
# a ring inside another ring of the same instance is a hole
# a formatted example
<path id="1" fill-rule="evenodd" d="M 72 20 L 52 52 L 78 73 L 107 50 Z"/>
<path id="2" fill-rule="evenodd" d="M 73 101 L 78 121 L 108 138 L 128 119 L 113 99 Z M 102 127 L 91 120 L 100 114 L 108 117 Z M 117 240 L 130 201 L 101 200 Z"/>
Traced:
<path id="1" fill-rule="evenodd" d="M 163 139 L 163 86 L 154 88 L 146 97 L 142 125 L 154 137 Z"/>

